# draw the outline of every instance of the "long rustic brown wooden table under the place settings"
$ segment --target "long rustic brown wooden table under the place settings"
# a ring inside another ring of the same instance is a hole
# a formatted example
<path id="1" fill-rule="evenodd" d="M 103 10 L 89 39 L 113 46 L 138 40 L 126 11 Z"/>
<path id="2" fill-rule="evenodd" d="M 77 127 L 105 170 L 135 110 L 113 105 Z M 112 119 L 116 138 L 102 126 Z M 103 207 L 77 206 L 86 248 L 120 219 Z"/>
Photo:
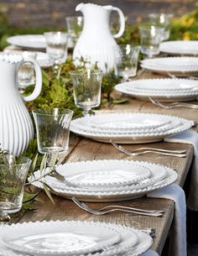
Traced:
<path id="1" fill-rule="evenodd" d="M 155 77 L 148 74 L 143 74 L 143 77 Z M 127 112 L 153 112 L 160 114 L 177 115 L 189 120 L 196 120 L 197 110 L 188 108 L 175 108 L 175 109 L 162 109 L 155 107 L 150 102 L 143 102 L 136 99 L 129 99 L 127 105 L 117 105 L 112 108 L 112 111 L 127 111 Z M 150 147 L 159 147 L 162 149 L 186 149 L 187 157 L 180 159 L 170 156 L 163 156 L 159 154 L 143 154 L 141 156 L 131 157 L 122 154 L 114 149 L 111 144 L 104 144 L 95 142 L 89 138 L 81 138 L 78 136 L 72 136 L 70 138 L 70 154 L 68 154 L 66 161 L 85 161 L 93 159 L 135 159 L 148 162 L 157 163 L 160 165 L 166 165 L 178 171 L 179 179 L 177 183 L 181 186 L 185 183 L 186 175 L 190 170 L 190 164 L 193 159 L 193 147 L 190 144 L 173 144 L 159 142 L 154 144 L 144 144 Z M 128 149 L 135 149 L 139 147 L 135 144 L 126 145 Z M 175 203 L 166 199 L 153 199 L 142 197 L 131 201 L 119 201 L 120 205 L 142 207 L 145 209 L 160 209 L 164 210 L 163 217 L 146 217 L 133 215 L 131 213 L 112 212 L 104 216 L 96 217 L 90 213 L 84 212 L 76 206 L 72 201 L 54 196 L 55 205 L 49 200 L 49 198 L 41 193 L 42 202 L 38 202 L 38 209 L 34 212 L 26 212 L 18 222 L 35 222 L 35 221 L 50 221 L 50 220 L 81 220 L 81 221 L 100 221 L 100 222 L 112 222 L 121 223 L 122 225 L 128 225 L 138 228 L 154 227 L 156 228 L 156 236 L 154 238 L 154 244 L 152 249 L 159 254 L 162 253 L 165 240 L 168 236 L 171 223 L 174 218 Z M 107 206 L 113 203 L 88 203 L 92 207 Z"/>

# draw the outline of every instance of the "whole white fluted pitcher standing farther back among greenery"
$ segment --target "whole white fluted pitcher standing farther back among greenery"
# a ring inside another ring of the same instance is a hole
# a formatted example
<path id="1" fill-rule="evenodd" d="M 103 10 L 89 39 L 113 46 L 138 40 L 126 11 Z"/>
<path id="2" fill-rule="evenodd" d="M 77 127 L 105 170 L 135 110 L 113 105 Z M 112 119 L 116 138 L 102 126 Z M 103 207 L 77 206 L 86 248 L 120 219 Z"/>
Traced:
<path id="1" fill-rule="evenodd" d="M 118 47 L 116 40 L 125 29 L 125 18 L 121 9 L 111 5 L 100 6 L 94 3 L 80 3 L 76 11 L 84 16 L 84 25 L 73 52 L 76 65 L 81 65 L 81 57 L 91 65 L 97 64 L 103 73 L 114 69 L 117 61 Z M 116 11 L 120 18 L 120 29 L 112 34 L 110 14 Z"/>

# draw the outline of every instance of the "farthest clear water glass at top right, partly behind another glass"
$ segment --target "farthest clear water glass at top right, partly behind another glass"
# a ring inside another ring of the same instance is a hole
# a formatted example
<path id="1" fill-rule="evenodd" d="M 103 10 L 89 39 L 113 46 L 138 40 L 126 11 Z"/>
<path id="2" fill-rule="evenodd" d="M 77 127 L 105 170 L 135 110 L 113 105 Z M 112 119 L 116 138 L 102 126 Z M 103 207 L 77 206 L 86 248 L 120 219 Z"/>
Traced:
<path id="1" fill-rule="evenodd" d="M 172 13 L 149 13 L 148 17 L 152 25 L 164 28 L 164 31 L 161 34 L 161 40 L 162 41 L 168 40 L 169 32 L 170 32 L 170 23 L 171 23 L 171 19 L 173 18 L 173 14 Z"/>

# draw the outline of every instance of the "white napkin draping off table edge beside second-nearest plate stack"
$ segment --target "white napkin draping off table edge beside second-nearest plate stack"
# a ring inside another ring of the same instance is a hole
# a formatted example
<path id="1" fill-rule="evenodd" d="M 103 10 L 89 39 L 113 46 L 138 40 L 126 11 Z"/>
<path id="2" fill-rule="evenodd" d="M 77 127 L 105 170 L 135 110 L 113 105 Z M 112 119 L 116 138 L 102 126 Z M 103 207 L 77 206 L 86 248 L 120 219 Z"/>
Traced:
<path id="1" fill-rule="evenodd" d="M 171 184 L 147 195 L 153 198 L 165 198 L 175 201 L 175 218 L 171 232 L 169 256 L 186 256 L 186 205 L 185 192 L 180 185 Z"/>

